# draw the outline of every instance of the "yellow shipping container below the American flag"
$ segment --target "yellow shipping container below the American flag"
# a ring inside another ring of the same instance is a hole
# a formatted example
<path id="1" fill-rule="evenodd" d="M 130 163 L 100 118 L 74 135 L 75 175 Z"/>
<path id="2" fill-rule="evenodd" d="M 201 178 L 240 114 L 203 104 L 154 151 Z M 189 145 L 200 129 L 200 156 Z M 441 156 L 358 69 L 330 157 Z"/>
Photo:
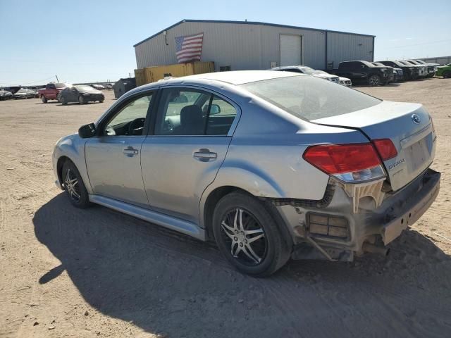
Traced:
<path id="1" fill-rule="evenodd" d="M 158 65 L 135 70 L 136 85 L 156 82 L 166 76 L 182 77 L 194 74 L 214 72 L 214 62 L 177 63 L 175 65 Z"/>

